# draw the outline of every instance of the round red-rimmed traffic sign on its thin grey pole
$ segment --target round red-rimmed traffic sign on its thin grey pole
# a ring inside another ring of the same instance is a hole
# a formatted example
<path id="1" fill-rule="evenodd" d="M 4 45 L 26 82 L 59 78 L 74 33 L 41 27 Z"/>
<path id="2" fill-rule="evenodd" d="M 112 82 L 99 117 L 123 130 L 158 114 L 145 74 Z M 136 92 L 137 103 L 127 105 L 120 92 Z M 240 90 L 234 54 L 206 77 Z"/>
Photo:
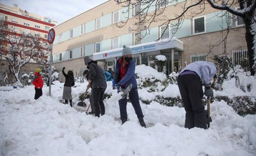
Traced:
<path id="1" fill-rule="evenodd" d="M 48 43 L 49 43 L 49 48 L 50 48 L 50 75 L 49 75 L 49 96 L 51 96 L 51 63 L 52 63 L 52 43 L 55 38 L 55 31 L 54 29 L 50 29 L 48 32 Z"/>

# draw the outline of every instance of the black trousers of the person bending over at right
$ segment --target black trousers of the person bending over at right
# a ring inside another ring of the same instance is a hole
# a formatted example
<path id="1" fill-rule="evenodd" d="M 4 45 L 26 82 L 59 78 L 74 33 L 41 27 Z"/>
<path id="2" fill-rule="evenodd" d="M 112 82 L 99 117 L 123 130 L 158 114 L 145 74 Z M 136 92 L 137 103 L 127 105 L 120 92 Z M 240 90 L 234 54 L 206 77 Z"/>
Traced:
<path id="1" fill-rule="evenodd" d="M 195 74 L 179 75 L 177 81 L 186 111 L 185 128 L 206 129 L 205 107 L 202 102 L 204 92 L 200 77 Z"/>

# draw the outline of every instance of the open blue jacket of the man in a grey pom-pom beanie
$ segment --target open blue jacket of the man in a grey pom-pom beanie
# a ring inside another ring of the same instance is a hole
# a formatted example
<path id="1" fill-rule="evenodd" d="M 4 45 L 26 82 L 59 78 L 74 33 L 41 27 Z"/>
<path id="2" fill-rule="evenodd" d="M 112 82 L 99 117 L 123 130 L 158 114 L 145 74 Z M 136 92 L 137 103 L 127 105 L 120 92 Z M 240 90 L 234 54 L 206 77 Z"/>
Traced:
<path id="1" fill-rule="evenodd" d="M 121 63 L 119 62 L 120 59 L 123 59 L 123 57 L 119 58 L 118 61 L 116 62 L 115 75 L 114 75 L 113 82 L 115 82 L 115 84 L 120 82 L 120 84 L 125 85 L 125 87 L 128 87 L 129 84 L 132 84 L 132 88 L 137 87 L 137 82 L 136 82 L 136 78 L 135 78 L 135 62 L 134 62 L 134 60 L 130 60 L 128 62 L 128 65 L 126 68 L 126 74 L 122 78 L 122 80 L 119 81 L 119 72 L 120 72 L 120 68 L 122 65 L 122 62 Z"/>

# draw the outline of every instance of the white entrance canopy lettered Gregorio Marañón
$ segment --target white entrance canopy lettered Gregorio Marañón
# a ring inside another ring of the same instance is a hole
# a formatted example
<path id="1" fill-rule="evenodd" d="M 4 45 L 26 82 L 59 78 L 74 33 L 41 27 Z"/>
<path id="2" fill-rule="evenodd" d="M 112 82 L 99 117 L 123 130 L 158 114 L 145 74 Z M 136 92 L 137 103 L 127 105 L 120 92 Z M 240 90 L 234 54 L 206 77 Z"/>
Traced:
<path id="1" fill-rule="evenodd" d="M 180 41 L 178 38 L 173 37 L 171 40 L 169 38 L 166 38 L 157 42 L 154 41 L 128 47 L 131 48 L 132 54 L 139 54 L 169 48 L 176 48 L 180 51 L 183 51 L 183 42 Z M 116 48 L 107 51 L 97 52 L 93 54 L 93 60 L 104 60 L 121 57 L 122 53 L 123 48 Z"/>

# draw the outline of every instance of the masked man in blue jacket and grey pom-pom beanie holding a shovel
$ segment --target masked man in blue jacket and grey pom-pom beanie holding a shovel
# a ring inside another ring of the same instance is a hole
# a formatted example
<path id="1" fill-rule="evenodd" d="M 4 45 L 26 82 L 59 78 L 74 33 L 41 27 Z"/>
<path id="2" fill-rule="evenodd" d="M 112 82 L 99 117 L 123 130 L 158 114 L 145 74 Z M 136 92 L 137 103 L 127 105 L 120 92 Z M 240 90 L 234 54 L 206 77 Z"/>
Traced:
<path id="1" fill-rule="evenodd" d="M 129 84 L 132 84 L 132 88 L 129 92 L 129 98 L 131 100 L 131 104 L 135 110 L 135 113 L 137 114 L 141 126 L 146 127 L 146 124 L 143 120 L 144 116 L 139 102 L 137 82 L 135 78 L 135 62 L 132 60 L 131 54 L 131 48 L 123 46 L 123 56 L 117 60 L 115 65 L 113 88 L 115 87 L 115 84 L 117 84 L 117 91 L 120 92 L 121 87 L 126 88 Z M 126 109 L 127 98 L 120 99 L 118 103 L 122 124 L 124 124 L 128 119 Z"/>

